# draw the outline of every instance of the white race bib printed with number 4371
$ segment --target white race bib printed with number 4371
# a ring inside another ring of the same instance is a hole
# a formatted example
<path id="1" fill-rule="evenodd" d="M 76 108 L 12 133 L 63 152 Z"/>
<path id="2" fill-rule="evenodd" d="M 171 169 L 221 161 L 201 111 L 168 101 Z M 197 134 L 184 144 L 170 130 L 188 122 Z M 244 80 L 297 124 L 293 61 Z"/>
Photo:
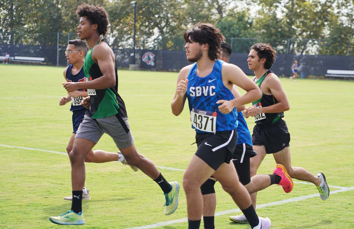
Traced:
<path id="1" fill-rule="evenodd" d="M 192 108 L 190 118 L 192 126 L 197 130 L 216 132 L 216 112 Z"/>

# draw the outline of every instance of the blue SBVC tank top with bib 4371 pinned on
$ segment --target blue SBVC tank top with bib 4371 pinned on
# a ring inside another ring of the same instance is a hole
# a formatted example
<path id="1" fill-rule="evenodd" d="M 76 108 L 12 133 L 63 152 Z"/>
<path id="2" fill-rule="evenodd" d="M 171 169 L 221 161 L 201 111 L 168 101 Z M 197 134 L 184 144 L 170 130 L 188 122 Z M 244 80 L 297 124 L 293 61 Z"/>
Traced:
<path id="1" fill-rule="evenodd" d="M 232 100 L 232 92 L 225 87 L 221 76 L 223 61 L 217 60 L 212 72 L 199 77 L 194 63 L 188 74 L 187 98 L 192 120 L 192 128 L 197 133 L 230 131 L 237 128 L 237 111 L 234 108 L 229 114 L 219 111 L 216 101 Z"/>

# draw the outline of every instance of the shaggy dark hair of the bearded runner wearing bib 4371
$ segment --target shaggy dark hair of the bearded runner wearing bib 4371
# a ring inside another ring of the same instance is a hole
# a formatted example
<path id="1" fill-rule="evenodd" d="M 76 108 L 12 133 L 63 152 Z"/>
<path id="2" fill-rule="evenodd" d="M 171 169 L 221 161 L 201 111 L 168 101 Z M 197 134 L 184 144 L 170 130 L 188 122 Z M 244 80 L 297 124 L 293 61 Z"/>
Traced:
<path id="1" fill-rule="evenodd" d="M 225 39 L 221 34 L 221 31 L 213 24 L 209 23 L 197 23 L 190 27 L 183 34 L 184 41 L 198 42 L 199 44 L 209 45 L 209 59 L 218 59 L 221 55 L 221 42 Z"/>

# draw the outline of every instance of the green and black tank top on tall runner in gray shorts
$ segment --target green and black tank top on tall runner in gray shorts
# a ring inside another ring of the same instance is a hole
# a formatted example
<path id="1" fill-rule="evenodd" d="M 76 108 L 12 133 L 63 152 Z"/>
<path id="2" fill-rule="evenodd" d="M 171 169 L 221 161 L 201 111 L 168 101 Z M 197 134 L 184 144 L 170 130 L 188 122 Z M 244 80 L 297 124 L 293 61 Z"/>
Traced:
<path id="1" fill-rule="evenodd" d="M 91 81 L 101 77 L 103 74 L 91 57 L 92 50 L 99 42 L 107 42 L 107 40 L 99 40 L 86 54 L 84 63 L 85 80 Z M 109 53 L 107 53 L 109 55 Z M 125 104 L 123 99 L 117 93 L 118 91 L 118 72 L 117 65 L 114 63 L 115 86 L 105 89 L 87 89 L 90 96 L 89 115 L 93 119 L 105 118 L 118 114 L 121 117 L 127 117 Z"/>

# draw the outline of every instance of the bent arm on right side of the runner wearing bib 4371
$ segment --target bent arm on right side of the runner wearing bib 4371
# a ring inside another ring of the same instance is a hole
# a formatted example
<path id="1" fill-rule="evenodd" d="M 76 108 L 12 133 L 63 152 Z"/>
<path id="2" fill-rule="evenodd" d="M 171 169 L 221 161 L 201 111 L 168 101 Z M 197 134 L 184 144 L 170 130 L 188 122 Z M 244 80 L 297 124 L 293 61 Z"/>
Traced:
<path id="1" fill-rule="evenodd" d="M 223 80 L 232 82 L 246 91 L 246 94 L 230 101 L 219 100 L 219 110 L 228 114 L 233 108 L 256 101 L 262 97 L 262 91 L 239 67 L 234 64 L 223 63 L 221 68 Z"/>

